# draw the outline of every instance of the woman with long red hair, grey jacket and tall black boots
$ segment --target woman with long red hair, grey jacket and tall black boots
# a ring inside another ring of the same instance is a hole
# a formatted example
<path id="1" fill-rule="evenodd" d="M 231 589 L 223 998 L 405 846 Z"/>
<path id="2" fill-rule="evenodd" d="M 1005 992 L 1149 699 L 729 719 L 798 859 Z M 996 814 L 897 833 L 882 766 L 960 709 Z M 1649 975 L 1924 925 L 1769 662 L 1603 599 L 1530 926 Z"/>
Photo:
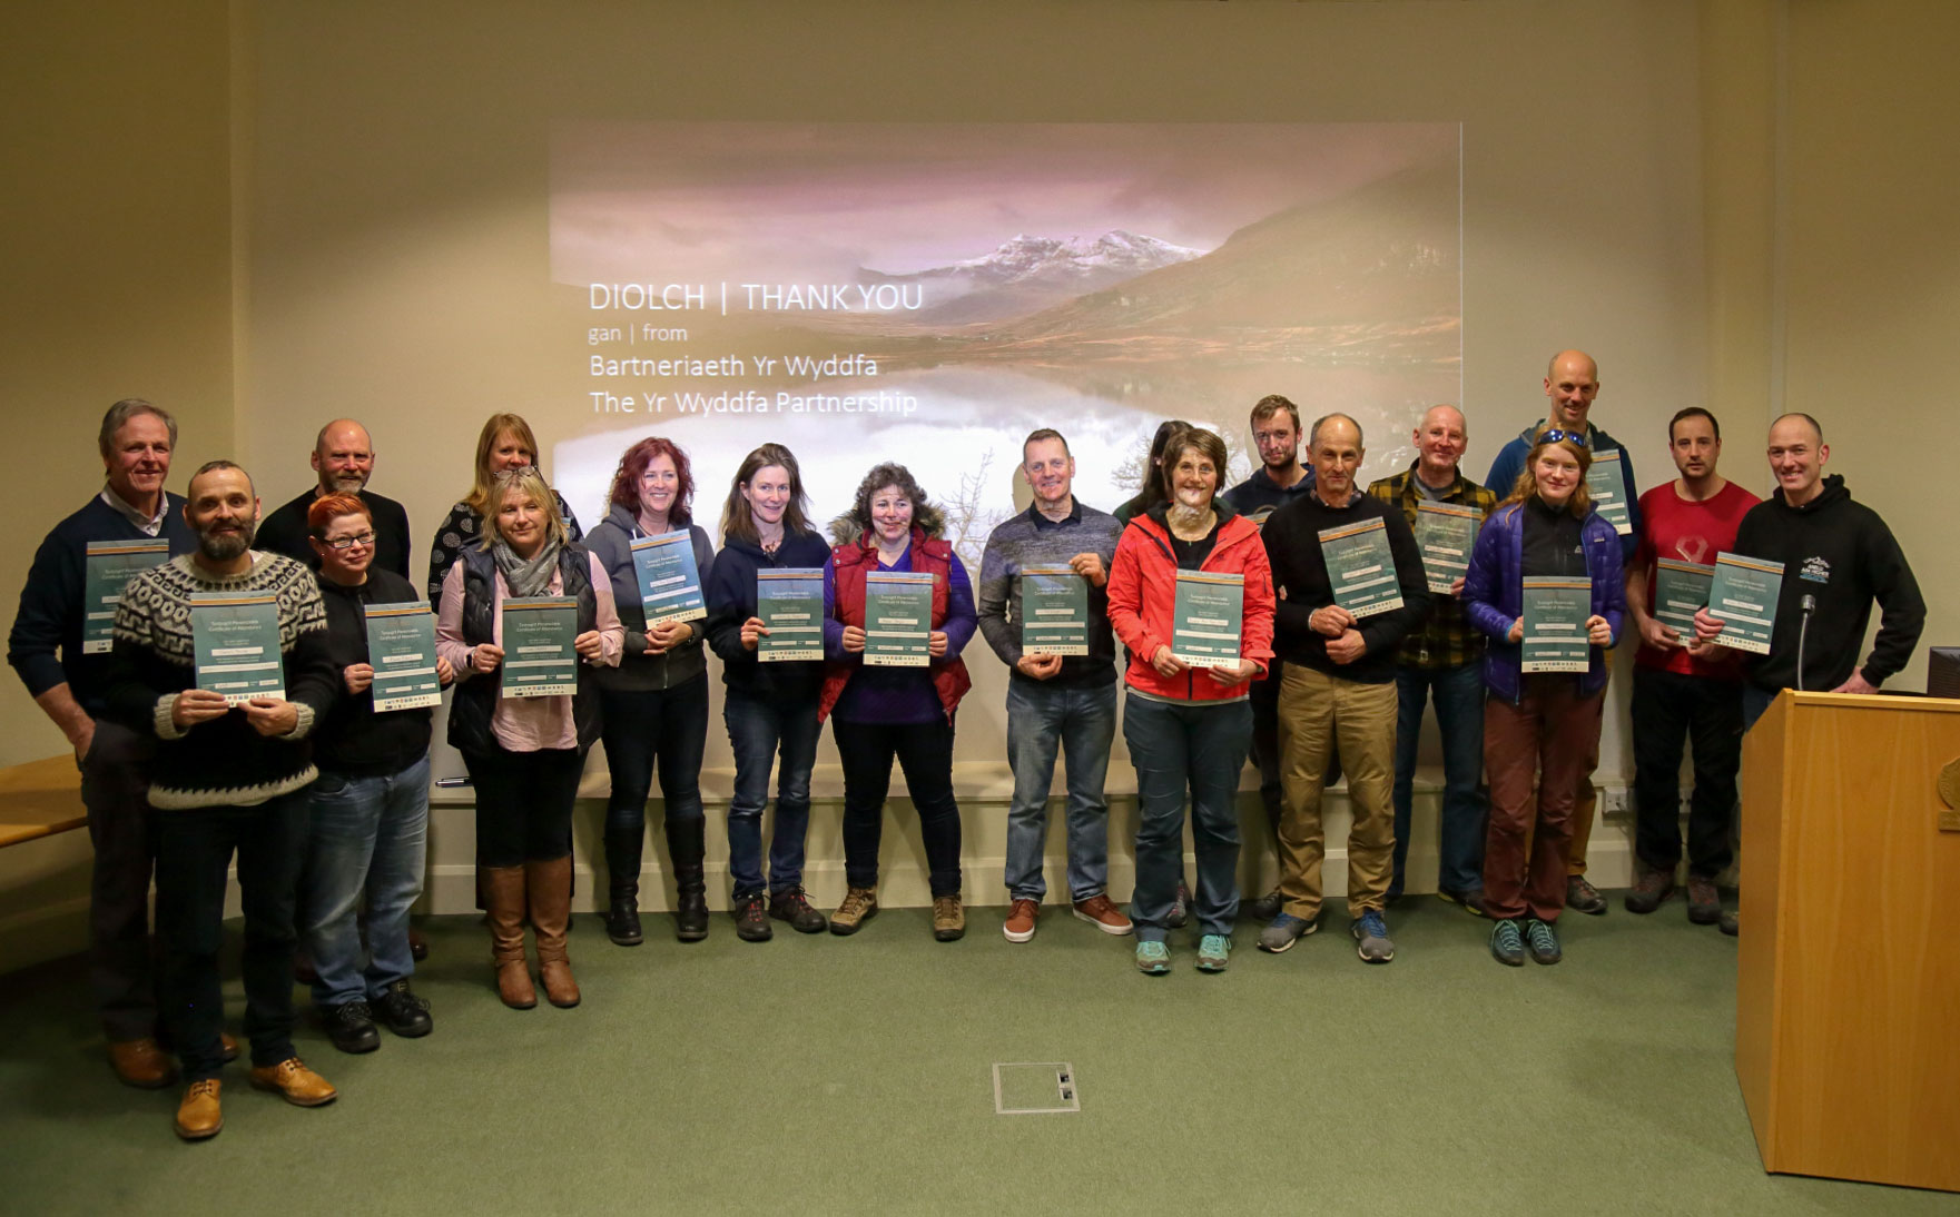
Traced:
<path id="1" fill-rule="evenodd" d="M 586 545 L 606 566 L 613 604 L 625 627 L 625 653 L 617 668 L 600 670 L 600 717 L 606 741 L 606 872 L 610 901 L 606 935 L 619 947 L 643 941 L 639 927 L 639 858 L 647 839 L 647 794 L 655 764 L 661 768 L 666 856 L 678 901 L 674 937 L 698 943 L 708 937 L 708 886 L 702 817 L 702 753 L 708 747 L 708 657 L 702 651 L 706 609 L 688 621 L 649 619 L 641 580 L 633 568 L 633 543 L 643 537 L 686 533 L 694 568 L 708 584 L 713 549 L 694 523 L 694 474 L 688 455 L 670 439 L 649 435 L 619 457 L 606 519 Z M 674 588 L 668 588 L 672 592 Z M 686 604 L 688 596 L 670 596 Z M 659 604 L 659 602 L 655 602 Z"/>

